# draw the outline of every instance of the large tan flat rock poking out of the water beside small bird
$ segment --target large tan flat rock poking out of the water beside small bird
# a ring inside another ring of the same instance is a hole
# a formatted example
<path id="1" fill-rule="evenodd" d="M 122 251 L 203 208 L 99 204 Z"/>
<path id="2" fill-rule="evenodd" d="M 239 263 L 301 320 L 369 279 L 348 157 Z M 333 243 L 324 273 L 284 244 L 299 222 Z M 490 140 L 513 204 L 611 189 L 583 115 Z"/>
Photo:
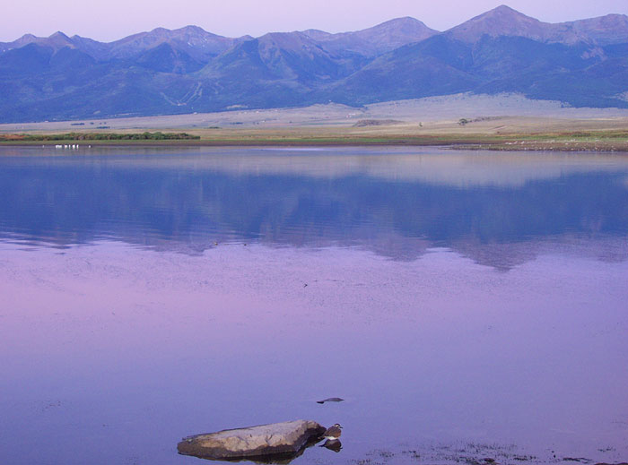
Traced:
<path id="1" fill-rule="evenodd" d="M 180 454 L 203 459 L 250 459 L 297 455 L 325 432 L 316 421 L 295 420 L 270 425 L 225 429 L 217 433 L 183 438 Z"/>

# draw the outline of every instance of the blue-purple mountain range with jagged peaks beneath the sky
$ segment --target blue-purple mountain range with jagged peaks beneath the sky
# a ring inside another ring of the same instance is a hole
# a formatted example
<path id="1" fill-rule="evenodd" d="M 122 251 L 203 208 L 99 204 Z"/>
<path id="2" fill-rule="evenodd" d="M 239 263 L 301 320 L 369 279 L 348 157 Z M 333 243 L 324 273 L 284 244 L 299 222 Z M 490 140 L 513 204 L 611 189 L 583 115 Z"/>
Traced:
<path id="1" fill-rule="evenodd" d="M 188 26 L 109 43 L 62 32 L 0 43 L 3 123 L 459 92 L 628 108 L 628 16 L 548 23 L 502 5 L 442 32 L 406 17 L 336 34 L 226 38 Z"/>

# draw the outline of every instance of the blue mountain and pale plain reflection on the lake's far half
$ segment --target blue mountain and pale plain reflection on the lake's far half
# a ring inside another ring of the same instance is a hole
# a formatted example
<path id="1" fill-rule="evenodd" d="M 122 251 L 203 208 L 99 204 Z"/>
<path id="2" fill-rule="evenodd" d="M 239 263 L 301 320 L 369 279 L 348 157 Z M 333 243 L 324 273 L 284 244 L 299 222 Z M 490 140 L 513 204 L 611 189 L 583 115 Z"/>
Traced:
<path id="1" fill-rule="evenodd" d="M 625 260 L 625 155 L 407 150 L 0 151 L 0 237 L 114 239 L 200 253 L 225 242 L 448 247 L 509 269 L 548 244 Z M 534 246 L 530 246 L 533 244 Z M 525 245 L 525 246 L 519 246 Z"/>

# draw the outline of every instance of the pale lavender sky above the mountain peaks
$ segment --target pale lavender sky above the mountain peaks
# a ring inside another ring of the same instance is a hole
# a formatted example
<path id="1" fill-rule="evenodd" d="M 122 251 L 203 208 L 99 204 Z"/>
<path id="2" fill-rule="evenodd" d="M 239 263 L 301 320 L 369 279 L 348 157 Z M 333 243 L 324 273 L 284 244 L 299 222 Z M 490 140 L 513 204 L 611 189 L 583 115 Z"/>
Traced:
<path id="1" fill-rule="evenodd" d="M 399 16 L 413 16 L 446 30 L 504 3 L 503 0 L 20 0 L 5 2 L 0 41 L 30 32 L 57 30 L 109 41 L 156 27 L 195 24 L 225 36 L 269 31 L 360 30 Z M 521 13 L 545 22 L 572 21 L 607 13 L 628 14 L 627 0 L 511 0 Z"/>

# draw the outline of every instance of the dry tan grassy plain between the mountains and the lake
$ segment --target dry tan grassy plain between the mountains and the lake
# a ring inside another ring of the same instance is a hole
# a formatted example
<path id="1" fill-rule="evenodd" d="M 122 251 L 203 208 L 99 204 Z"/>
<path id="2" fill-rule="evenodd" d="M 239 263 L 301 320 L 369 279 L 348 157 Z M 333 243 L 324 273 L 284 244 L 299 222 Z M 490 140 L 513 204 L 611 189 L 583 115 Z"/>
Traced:
<path id="1" fill-rule="evenodd" d="M 522 116 L 503 115 L 518 108 Z M 355 126 L 365 119 L 369 125 Z M 393 124 L 386 124 L 392 119 Z M 454 96 L 365 108 L 318 105 L 82 123 L 0 125 L 0 133 L 185 131 L 200 137 L 198 141 L 91 142 L 125 145 L 453 145 L 508 151 L 628 151 L 628 110 L 561 108 L 506 97 Z M 99 125 L 107 129 L 95 129 Z"/>

